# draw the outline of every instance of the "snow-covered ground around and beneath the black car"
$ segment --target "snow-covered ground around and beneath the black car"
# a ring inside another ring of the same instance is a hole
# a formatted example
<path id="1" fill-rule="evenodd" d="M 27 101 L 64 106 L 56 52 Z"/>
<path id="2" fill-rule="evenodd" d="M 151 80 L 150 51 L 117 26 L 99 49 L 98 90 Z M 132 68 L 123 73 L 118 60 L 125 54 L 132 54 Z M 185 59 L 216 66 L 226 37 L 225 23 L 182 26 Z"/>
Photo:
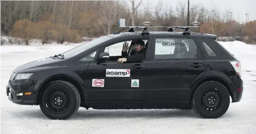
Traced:
<path id="1" fill-rule="evenodd" d="M 227 113 L 218 119 L 201 119 L 193 110 L 83 107 L 68 120 L 48 119 L 39 106 L 10 102 L 6 84 L 17 66 L 76 45 L 1 46 L 1 134 L 256 134 L 256 46 L 237 41 L 220 43 L 241 62 L 244 93 L 242 100 L 231 103 Z"/>

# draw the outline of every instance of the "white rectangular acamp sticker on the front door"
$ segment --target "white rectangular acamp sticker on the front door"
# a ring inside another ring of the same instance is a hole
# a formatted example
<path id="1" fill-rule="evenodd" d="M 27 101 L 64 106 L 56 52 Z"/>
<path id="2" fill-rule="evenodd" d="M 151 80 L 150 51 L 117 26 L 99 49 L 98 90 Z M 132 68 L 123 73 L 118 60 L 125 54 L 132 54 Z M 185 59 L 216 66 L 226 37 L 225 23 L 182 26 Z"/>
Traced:
<path id="1" fill-rule="evenodd" d="M 130 77 L 130 69 L 106 69 L 106 77 Z"/>

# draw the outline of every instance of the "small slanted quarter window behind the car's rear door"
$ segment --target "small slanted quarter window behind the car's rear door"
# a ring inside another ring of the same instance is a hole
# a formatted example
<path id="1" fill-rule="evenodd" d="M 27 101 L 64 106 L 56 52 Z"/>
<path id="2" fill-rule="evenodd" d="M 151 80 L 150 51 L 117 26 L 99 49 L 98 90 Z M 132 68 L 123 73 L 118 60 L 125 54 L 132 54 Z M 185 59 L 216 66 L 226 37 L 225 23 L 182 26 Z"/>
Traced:
<path id="1" fill-rule="evenodd" d="M 203 53 L 206 58 L 231 58 L 232 56 L 225 51 L 217 42 L 213 39 L 197 38 L 197 43 L 200 44 L 203 49 Z"/>

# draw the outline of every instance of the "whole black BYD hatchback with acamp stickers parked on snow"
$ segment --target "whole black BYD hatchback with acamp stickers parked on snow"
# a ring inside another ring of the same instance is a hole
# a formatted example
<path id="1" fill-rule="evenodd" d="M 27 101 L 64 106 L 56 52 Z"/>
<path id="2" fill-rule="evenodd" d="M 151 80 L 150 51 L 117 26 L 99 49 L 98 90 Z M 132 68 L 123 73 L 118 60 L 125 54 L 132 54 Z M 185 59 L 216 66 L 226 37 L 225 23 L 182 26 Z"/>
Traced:
<path id="1" fill-rule="evenodd" d="M 79 107 L 94 109 L 193 109 L 218 118 L 243 93 L 240 62 L 217 36 L 158 31 L 113 33 L 63 54 L 16 68 L 6 88 L 9 100 L 40 105 L 50 119 L 67 119 Z M 144 40 L 146 57 L 118 63 L 123 42 Z"/>

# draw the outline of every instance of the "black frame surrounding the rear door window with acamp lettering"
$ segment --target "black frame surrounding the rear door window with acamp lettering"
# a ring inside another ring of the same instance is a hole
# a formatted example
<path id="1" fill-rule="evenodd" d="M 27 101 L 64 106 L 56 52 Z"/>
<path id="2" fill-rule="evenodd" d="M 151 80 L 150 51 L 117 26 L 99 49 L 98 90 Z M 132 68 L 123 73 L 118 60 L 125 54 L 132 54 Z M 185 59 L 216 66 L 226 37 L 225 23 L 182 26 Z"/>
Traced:
<path id="1" fill-rule="evenodd" d="M 166 38 L 166 39 L 192 39 L 197 46 L 197 58 L 177 58 L 177 59 L 154 59 L 155 48 L 156 48 L 156 38 Z M 177 36 L 155 36 L 152 39 L 151 51 L 150 51 L 150 61 L 159 61 L 159 60 L 199 60 L 203 59 L 202 54 L 200 53 L 200 46 L 197 44 L 196 40 L 193 37 L 177 37 Z"/>

